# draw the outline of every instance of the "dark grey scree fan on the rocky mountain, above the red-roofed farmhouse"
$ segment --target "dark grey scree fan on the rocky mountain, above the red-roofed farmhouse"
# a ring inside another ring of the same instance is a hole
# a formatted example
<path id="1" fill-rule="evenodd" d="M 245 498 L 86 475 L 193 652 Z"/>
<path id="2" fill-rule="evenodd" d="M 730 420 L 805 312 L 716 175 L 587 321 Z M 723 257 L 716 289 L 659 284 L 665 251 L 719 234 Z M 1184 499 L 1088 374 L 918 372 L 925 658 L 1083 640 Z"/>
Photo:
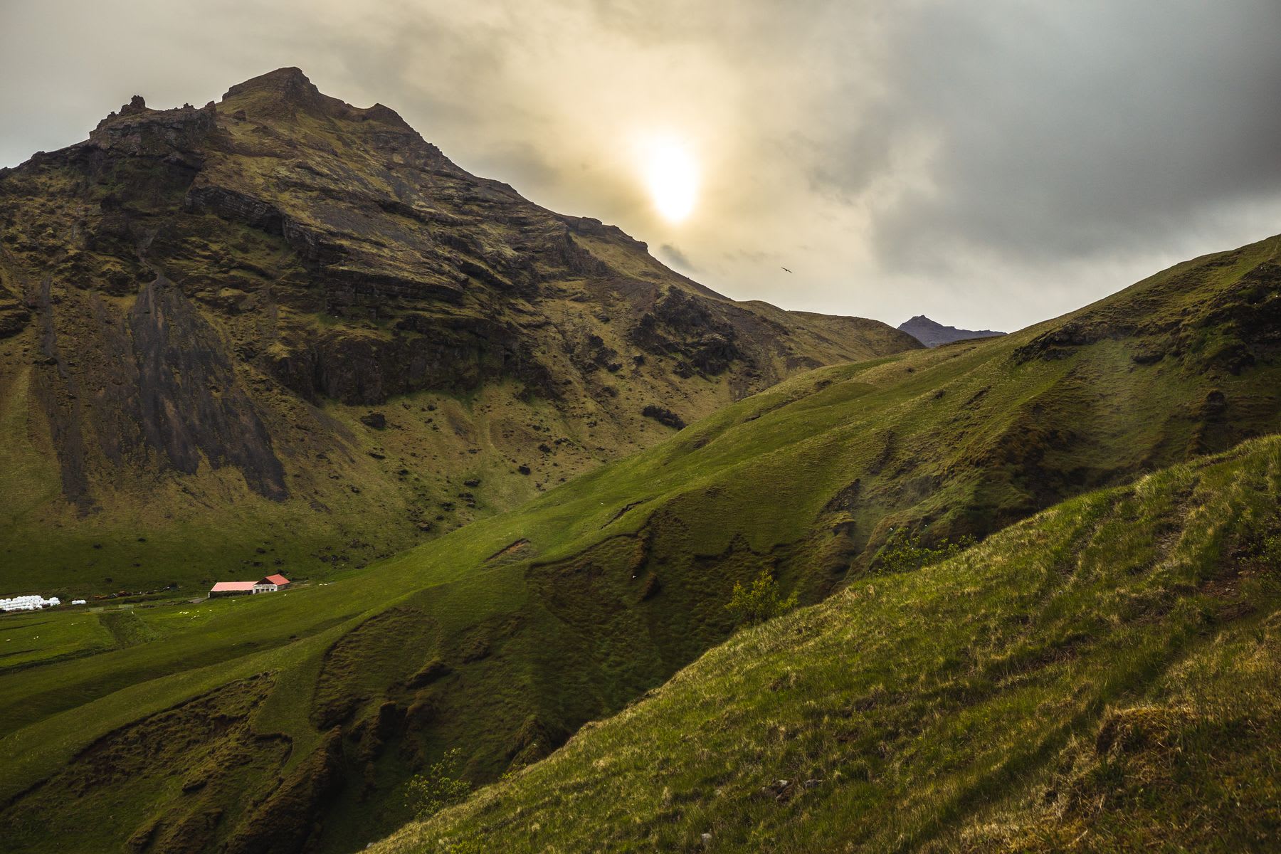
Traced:
<path id="1" fill-rule="evenodd" d="M 156 278 L 124 318 L 95 294 L 54 302 L 42 291 L 45 361 L 36 373 L 63 471 L 63 492 L 82 511 L 90 497 L 82 433 L 92 407 L 102 455 L 115 465 L 150 460 L 195 474 L 201 461 L 238 469 L 255 492 L 288 497 L 284 470 L 259 407 L 246 396 L 224 344 L 173 283 Z M 96 328 L 90 342 L 86 326 Z M 78 341 L 78 359 L 64 342 Z M 85 343 L 92 343 L 86 348 Z"/>

